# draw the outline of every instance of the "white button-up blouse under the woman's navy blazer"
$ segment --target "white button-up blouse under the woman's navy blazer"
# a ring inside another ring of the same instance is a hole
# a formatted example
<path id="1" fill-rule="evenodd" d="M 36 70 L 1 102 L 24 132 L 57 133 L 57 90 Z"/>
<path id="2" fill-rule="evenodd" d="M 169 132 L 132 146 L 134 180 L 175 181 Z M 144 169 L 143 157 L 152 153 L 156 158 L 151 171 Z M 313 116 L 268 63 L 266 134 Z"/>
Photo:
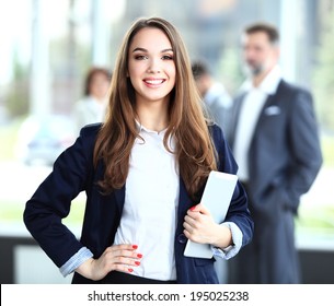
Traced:
<path id="1" fill-rule="evenodd" d="M 165 130 L 143 127 L 136 139 L 125 186 L 125 203 L 115 245 L 138 245 L 140 266 L 131 274 L 156 280 L 176 280 L 174 235 L 180 193 L 175 155 L 163 145 Z M 170 141 L 173 150 L 174 143 Z"/>

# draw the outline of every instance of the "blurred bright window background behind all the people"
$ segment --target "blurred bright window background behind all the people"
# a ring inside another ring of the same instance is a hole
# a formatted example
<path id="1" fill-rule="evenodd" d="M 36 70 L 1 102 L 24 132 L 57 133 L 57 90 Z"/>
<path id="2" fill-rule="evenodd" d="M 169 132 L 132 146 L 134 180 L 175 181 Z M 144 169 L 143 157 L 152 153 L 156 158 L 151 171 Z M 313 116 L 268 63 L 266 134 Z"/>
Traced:
<path id="1" fill-rule="evenodd" d="M 0 2 L 0 282 L 70 282 L 30 238 L 22 212 L 76 140 L 72 110 L 87 71 L 112 71 L 129 25 L 150 15 L 171 21 L 191 58 L 205 58 L 231 95 L 244 79 L 242 28 L 278 26 L 284 76 L 313 93 L 324 156 L 296 220 L 303 280 L 333 281 L 334 0 L 11 0 Z M 79 195 L 66 221 L 78 236 L 83 208 Z"/>

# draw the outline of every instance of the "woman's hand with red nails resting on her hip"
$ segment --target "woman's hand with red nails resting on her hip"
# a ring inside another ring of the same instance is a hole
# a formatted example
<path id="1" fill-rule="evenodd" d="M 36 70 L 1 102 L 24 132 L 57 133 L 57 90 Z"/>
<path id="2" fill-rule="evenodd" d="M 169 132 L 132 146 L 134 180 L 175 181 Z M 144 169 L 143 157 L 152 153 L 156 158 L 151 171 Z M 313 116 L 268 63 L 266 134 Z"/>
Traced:
<path id="1" fill-rule="evenodd" d="M 99 259 L 90 258 L 80 264 L 76 272 L 82 276 L 99 281 L 111 271 L 133 272 L 131 267 L 140 264 L 141 254 L 136 245 L 117 245 L 107 247 Z"/>

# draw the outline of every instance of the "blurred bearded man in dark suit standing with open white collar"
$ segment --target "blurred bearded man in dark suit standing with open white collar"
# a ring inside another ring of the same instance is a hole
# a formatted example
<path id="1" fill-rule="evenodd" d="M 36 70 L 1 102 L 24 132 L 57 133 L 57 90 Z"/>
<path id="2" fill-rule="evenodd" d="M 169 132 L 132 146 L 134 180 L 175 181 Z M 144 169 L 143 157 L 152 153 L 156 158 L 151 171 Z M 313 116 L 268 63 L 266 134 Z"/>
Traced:
<path id="1" fill-rule="evenodd" d="M 242 36 L 249 79 L 232 107 L 231 144 L 254 219 L 254 238 L 229 269 L 232 283 L 300 283 L 295 217 L 322 165 L 311 93 L 283 79 L 279 33 L 255 23 Z"/>

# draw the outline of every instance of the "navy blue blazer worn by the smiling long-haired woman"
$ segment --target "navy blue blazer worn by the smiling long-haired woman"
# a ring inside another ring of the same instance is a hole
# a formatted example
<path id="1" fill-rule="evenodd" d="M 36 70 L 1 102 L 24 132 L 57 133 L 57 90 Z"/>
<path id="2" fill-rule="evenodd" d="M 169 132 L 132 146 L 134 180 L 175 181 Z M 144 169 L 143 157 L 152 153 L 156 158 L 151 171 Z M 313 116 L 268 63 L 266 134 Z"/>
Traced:
<path id="1" fill-rule="evenodd" d="M 96 181 L 104 174 L 103 163 L 93 166 L 93 149 L 101 125 L 84 127 L 76 143 L 60 154 L 53 172 L 27 201 L 24 222 L 36 242 L 57 267 L 67 262 L 80 248 L 89 248 L 99 258 L 113 245 L 125 200 L 125 187 L 102 195 Z M 235 174 L 238 166 L 219 127 L 210 127 L 219 156 L 219 170 Z M 183 222 L 194 203 L 181 180 L 177 227 L 175 233 L 175 262 L 178 283 L 218 283 L 214 259 L 189 258 L 183 255 L 186 237 Z M 80 240 L 61 220 L 70 212 L 71 201 L 85 191 L 87 205 Z M 247 210 L 247 198 L 238 183 L 226 221 L 234 222 L 243 234 L 243 246 L 253 236 L 253 221 Z M 94 283 L 74 273 L 73 283 Z"/>

